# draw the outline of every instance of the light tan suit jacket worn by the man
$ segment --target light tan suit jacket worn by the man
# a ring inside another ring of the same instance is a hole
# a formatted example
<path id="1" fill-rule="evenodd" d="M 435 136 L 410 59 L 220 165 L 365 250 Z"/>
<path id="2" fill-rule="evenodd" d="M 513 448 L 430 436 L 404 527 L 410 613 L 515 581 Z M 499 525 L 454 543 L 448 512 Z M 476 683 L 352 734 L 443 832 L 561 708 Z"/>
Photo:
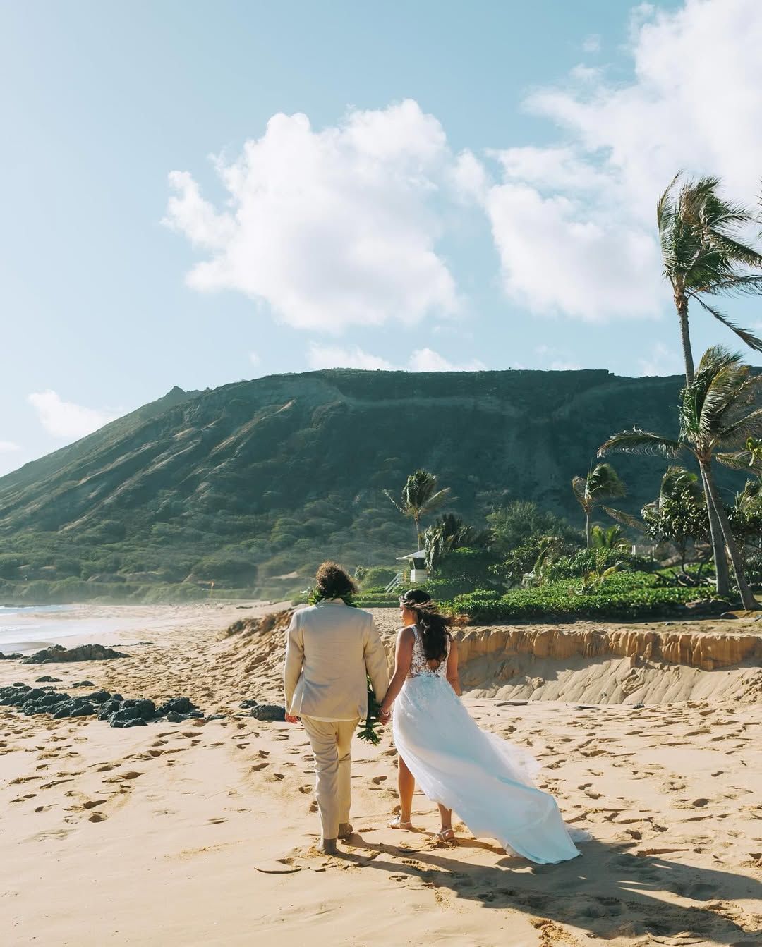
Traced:
<path id="1" fill-rule="evenodd" d="M 366 671 L 380 702 L 389 688 L 389 669 L 369 612 L 326 599 L 294 613 L 283 665 L 288 713 L 323 720 L 365 717 Z"/>

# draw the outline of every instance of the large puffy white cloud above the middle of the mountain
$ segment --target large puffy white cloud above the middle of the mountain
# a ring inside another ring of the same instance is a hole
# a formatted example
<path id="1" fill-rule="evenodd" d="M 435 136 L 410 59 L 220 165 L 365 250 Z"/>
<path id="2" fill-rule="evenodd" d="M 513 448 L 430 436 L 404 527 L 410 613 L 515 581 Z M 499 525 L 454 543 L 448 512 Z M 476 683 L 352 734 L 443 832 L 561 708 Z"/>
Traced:
<path id="1" fill-rule="evenodd" d="M 164 223 L 209 252 L 188 277 L 197 290 L 266 300 L 299 329 L 409 324 L 458 309 L 431 201 L 452 167 L 442 126 L 409 99 L 319 132 L 279 114 L 235 162 L 217 159 L 226 209 L 173 171 Z"/>

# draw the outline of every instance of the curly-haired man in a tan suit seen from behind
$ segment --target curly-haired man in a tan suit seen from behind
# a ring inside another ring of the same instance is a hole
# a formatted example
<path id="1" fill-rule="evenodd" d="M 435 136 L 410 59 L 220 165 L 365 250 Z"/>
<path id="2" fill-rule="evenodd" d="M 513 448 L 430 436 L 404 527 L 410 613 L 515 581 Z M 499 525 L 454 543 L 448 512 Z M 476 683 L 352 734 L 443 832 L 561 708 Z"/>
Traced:
<path id="1" fill-rule="evenodd" d="M 336 563 L 323 563 L 315 584 L 318 603 L 295 612 L 286 633 L 283 686 L 286 720 L 301 719 L 315 755 L 319 848 L 335 854 L 336 839 L 353 831 L 350 744 L 368 713 L 366 672 L 380 702 L 389 688 L 389 670 L 372 615 L 346 603 L 354 593 L 347 573 Z"/>

